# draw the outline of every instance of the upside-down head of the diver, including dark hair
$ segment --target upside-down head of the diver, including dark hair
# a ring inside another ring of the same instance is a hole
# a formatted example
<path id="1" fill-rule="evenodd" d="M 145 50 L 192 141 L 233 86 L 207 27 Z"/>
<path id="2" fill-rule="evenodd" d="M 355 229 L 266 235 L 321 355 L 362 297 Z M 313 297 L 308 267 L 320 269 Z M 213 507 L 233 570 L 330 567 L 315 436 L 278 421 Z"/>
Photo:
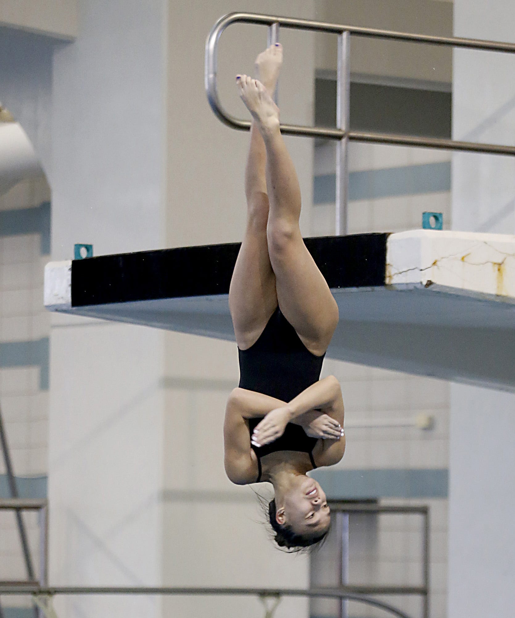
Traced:
<path id="1" fill-rule="evenodd" d="M 331 522 L 324 490 L 306 475 L 291 476 L 286 485 L 275 488 L 269 518 L 275 542 L 288 549 L 318 543 L 327 535 Z"/>

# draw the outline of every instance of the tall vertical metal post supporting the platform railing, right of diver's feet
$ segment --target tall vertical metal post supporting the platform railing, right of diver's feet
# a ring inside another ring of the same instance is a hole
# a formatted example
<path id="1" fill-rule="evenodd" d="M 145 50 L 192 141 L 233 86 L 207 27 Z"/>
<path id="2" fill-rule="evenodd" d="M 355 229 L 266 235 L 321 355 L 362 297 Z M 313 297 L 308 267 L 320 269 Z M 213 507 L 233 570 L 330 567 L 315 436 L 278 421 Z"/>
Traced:
<path id="1" fill-rule="evenodd" d="M 350 129 L 350 32 L 338 35 L 338 69 L 337 69 L 337 99 L 336 119 L 338 129 L 345 131 L 345 135 L 337 142 L 336 151 L 336 235 L 347 234 L 348 227 L 348 198 L 349 198 L 349 138 Z"/>

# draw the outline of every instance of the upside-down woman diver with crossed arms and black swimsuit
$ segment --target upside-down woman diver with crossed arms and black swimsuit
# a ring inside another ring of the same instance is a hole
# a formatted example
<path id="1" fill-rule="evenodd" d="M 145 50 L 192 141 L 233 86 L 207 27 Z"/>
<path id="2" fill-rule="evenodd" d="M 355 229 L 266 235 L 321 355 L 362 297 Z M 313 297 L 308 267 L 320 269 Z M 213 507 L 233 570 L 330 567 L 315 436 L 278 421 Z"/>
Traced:
<path id="1" fill-rule="evenodd" d="M 275 541 L 307 547 L 329 530 L 325 493 L 306 472 L 345 451 L 343 401 L 319 380 L 338 306 L 299 229 L 301 195 L 272 101 L 282 46 L 259 54 L 259 79 L 237 76 L 253 117 L 245 171 L 248 219 L 229 292 L 240 385 L 227 402 L 225 472 L 238 485 L 269 481 Z"/>

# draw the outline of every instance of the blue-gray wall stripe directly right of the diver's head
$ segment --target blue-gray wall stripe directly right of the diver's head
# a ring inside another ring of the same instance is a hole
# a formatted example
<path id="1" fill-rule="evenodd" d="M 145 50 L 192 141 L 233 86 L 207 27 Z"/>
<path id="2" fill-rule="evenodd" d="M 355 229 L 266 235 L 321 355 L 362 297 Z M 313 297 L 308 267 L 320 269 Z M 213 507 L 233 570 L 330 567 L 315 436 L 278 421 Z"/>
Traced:
<path id="1" fill-rule="evenodd" d="M 448 470 L 316 470 L 312 476 L 332 500 L 445 498 Z"/>

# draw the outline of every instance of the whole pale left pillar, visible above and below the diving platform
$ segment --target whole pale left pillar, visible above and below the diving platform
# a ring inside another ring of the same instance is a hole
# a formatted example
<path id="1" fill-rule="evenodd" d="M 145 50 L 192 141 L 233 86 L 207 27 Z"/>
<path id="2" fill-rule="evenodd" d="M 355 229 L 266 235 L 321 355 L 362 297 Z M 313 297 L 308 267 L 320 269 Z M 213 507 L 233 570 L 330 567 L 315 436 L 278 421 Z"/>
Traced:
<path id="1" fill-rule="evenodd" d="M 165 4 L 84 0 L 56 48 L 52 259 L 164 240 Z M 54 316 L 49 500 L 52 583 L 162 583 L 164 335 Z M 61 598 L 62 616 L 158 616 L 159 598 Z"/>

